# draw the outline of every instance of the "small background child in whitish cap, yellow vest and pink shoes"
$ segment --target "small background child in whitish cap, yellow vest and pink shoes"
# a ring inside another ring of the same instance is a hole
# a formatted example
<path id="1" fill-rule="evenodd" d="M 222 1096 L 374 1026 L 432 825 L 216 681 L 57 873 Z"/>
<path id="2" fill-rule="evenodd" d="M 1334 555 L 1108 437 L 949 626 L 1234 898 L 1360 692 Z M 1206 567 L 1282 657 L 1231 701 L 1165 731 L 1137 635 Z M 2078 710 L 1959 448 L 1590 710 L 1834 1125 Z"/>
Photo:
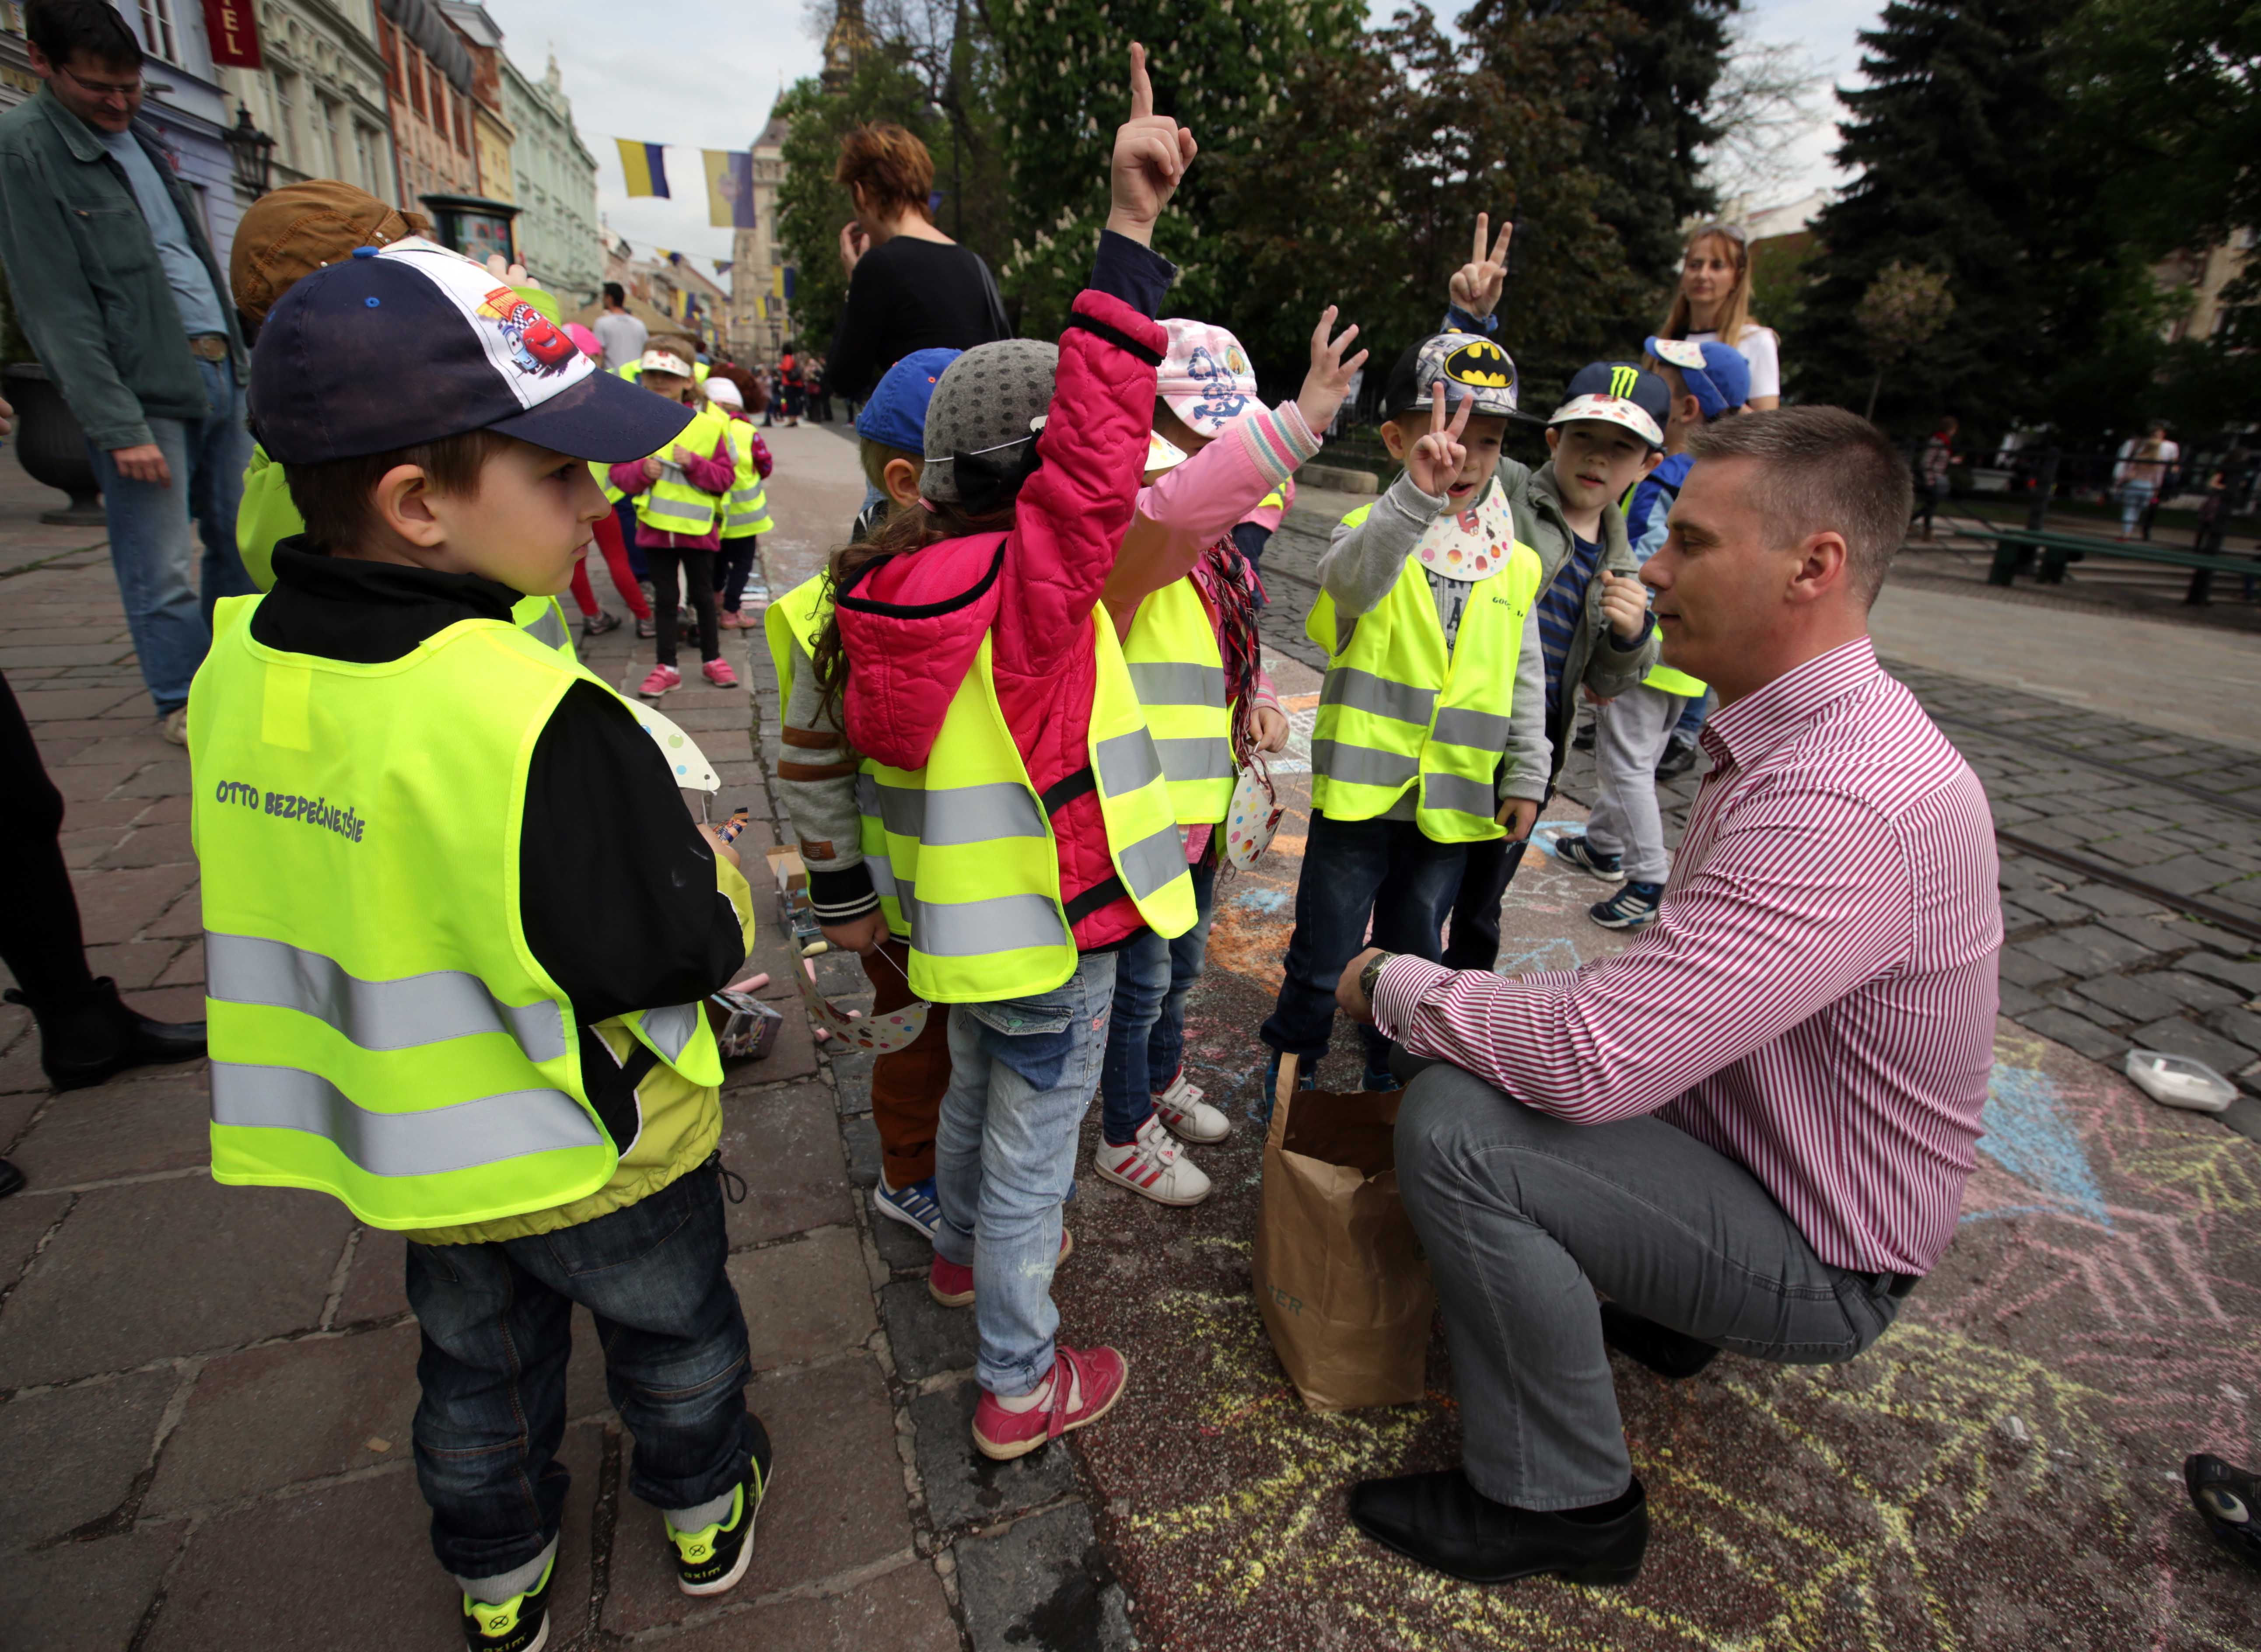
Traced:
<path id="1" fill-rule="evenodd" d="M 651 572 L 651 615 L 658 621 L 658 664 L 638 694 L 656 701 L 683 687 L 676 671 L 678 592 L 699 615 L 701 673 L 719 689 L 737 687 L 737 671 L 721 658 L 721 617 L 714 603 L 714 551 L 737 486 L 737 450 L 721 414 L 699 405 L 699 380 L 687 357 L 665 346 L 644 350 L 638 384 L 653 395 L 696 407 L 692 423 L 665 452 L 613 466 L 613 493 L 635 502 L 635 547 Z M 681 581 L 681 585 L 678 585 Z"/>

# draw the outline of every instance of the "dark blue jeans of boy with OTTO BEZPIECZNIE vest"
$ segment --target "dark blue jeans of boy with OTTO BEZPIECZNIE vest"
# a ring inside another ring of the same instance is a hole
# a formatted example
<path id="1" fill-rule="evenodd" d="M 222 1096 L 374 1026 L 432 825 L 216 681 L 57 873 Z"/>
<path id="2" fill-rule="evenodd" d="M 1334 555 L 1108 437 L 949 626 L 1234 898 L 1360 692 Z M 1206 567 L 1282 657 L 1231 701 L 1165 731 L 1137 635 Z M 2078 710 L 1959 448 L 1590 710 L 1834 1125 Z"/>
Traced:
<path id="1" fill-rule="evenodd" d="M 597 1315 L 604 1381 L 635 1437 L 629 1489 L 660 1510 L 696 1510 L 739 1483 L 753 1451 L 751 1356 L 728 1252 L 717 1159 L 574 1227 L 409 1245 L 409 1306 L 423 1327 L 416 1483 L 441 1566 L 493 1577 L 558 1534 L 577 1302 Z"/>

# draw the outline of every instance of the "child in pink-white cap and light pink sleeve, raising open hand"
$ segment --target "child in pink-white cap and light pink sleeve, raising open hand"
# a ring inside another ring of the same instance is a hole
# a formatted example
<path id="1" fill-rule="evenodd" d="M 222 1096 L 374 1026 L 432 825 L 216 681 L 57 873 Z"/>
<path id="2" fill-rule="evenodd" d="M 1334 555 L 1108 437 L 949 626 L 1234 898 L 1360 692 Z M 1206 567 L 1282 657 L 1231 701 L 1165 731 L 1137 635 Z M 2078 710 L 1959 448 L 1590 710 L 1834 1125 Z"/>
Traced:
<path id="1" fill-rule="evenodd" d="M 1137 515 L 1108 576 L 1106 603 L 1169 782 L 1196 922 L 1173 940 L 1133 936 L 1115 963 L 1115 1010 L 1101 1067 L 1101 1134 L 1092 1168 L 1158 1205 L 1198 1205 L 1210 1177 L 1180 1141 L 1223 1141 L 1230 1121 L 1185 1076 L 1185 1001 L 1201 976 L 1223 820 L 1237 775 L 1287 746 L 1287 716 L 1264 673 L 1255 549 L 1277 527 L 1291 472 L 1311 459 L 1350 375 L 1357 328 L 1311 334 L 1311 366 L 1291 402 L 1264 407 L 1241 341 L 1203 321 L 1164 321 L 1153 438 Z"/>

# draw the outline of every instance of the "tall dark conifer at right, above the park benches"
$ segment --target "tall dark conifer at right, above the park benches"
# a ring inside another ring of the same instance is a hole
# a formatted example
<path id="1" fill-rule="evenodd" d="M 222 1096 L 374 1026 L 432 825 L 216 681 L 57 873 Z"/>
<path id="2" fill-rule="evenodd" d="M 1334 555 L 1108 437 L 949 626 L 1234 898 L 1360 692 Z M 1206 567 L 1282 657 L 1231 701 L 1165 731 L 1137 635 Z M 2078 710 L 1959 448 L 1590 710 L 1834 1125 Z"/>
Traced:
<path id="1" fill-rule="evenodd" d="M 1838 160 L 1859 172 L 1816 219 L 1822 251 L 1784 359 L 1804 400 L 1859 405 L 1874 357 L 1859 305 L 1899 260 L 1956 310 L 1879 402 L 1886 425 L 1956 411 L 2001 432 L 2089 438 L 2139 416 L 2157 298 L 2116 235 L 2114 194 L 2067 140 L 2064 27 L 2080 0 L 1892 0 L 1861 34 Z"/>

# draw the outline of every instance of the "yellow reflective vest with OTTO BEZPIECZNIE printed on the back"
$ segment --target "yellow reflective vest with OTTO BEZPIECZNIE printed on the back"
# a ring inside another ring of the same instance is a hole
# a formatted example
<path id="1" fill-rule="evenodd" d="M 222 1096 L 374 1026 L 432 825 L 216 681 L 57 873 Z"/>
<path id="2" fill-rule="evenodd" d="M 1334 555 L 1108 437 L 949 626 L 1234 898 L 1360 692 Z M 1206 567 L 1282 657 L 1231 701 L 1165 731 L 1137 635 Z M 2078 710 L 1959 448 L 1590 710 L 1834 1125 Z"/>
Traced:
<path id="1" fill-rule="evenodd" d="M 219 603 L 188 705 L 213 1177 L 405 1229 L 604 1189 L 640 1116 L 590 1103 L 518 911 L 536 734 L 599 678 L 493 619 L 382 664 L 283 653 L 251 637 L 258 601 Z M 721 1083 L 699 1003 L 622 1026 Z"/>

